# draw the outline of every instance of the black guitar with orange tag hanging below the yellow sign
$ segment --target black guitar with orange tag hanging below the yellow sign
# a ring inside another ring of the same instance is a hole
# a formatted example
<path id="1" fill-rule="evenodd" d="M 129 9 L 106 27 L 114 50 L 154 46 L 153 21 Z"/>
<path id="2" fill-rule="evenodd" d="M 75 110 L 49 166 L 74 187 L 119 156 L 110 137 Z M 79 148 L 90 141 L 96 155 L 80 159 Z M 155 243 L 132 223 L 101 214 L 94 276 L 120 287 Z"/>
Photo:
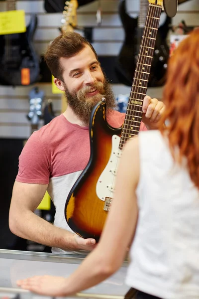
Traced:
<path id="1" fill-rule="evenodd" d="M 15 10 L 15 0 L 6 0 L 7 10 Z M 29 85 L 39 79 L 39 59 L 32 45 L 37 26 L 31 15 L 24 33 L 0 35 L 0 84 Z"/>

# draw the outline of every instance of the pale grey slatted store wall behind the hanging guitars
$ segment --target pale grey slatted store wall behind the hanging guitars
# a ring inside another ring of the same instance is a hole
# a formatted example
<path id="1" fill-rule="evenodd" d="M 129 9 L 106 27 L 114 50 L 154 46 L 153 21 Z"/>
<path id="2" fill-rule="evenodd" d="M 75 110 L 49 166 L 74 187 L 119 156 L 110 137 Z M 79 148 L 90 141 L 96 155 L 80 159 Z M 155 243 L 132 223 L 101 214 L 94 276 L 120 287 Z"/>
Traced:
<path id="1" fill-rule="evenodd" d="M 99 1 L 84 5 L 77 10 L 78 26 L 93 27 L 93 45 L 100 56 L 117 56 L 124 39 L 124 31 L 118 15 L 119 0 L 100 0 L 102 8 L 102 23 L 96 23 L 96 11 Z M 127 11 L 131 16 L 139 12 L 139 0 L 126 0 Z M 28 24 L 31 13 L 38 15 L 38 26 L 34 36 L 34 47 L 38 56 L 42 56 L 49 42 L 59 35 L 62 13 L 47 13 L 43 0 L 16 1 L 17 9 L 24 9 Z M 5 2 L 0 2 L 0 11 L 5 10 Z M 164 21 L 164 13 L 161 21 Z M 187 25 L 199 25 L 199 0 L 189 0 L 179 5 L 178 13 L 173 18 L 173 24 L 185 20 Z M 111 79 L 111 78 L 109 78 Z M 44 90 L 45 99 L 53 100 L 56 115 L 61 111 L 61 96 L 52 94 L 50 83 L 35 84 Z M 28 138 L 30 124 L 26 118 L 29 111 L 28 93 L 32 86 L 7 87 L 0 86 L 0 138 Z M 115 95 L 128 94 L 130 87 L 113 84 Z M 162 88 L 150 88 L 148 94 L 161 98 Z"/>

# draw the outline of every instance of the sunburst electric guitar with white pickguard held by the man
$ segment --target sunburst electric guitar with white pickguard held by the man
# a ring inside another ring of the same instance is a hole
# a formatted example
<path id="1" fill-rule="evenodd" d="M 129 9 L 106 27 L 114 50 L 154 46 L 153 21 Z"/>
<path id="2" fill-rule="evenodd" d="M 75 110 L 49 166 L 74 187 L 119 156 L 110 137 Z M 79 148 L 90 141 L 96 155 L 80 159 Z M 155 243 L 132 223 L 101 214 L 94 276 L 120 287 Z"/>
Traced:
<path id="1" fill-rule="evenodd" d="M 115 174 L 123 146 L 128 139 L 139 133 L 162 3 L 163 0 L 157 0 L 157 3 L 156 0 L 149 0 L 123 126 L 114 129 L 108 125 L 105 101 L 98 103 L 92 111 L 90 159 L 65 203 L 65 218 L 69 227 L 83 238 L 99 241 L 111 206 Z"/>

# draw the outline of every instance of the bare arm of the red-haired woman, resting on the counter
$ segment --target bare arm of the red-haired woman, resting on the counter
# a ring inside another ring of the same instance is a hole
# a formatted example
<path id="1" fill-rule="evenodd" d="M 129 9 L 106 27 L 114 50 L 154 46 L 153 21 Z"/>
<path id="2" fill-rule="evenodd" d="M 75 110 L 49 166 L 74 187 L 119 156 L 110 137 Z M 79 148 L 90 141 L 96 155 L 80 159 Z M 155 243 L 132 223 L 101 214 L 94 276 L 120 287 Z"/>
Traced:
<path id="1" fill-rule="evenodd" d="M 68 278 L 33 277 L 17 282 L 18 286 L 41 295 L 69 296 L 99 284 L 116 272 L 135 233 L 138 180 L 139 146 L 138 138 L 134 138 L 122 152 L 113 203 L 97 247 Z"/>

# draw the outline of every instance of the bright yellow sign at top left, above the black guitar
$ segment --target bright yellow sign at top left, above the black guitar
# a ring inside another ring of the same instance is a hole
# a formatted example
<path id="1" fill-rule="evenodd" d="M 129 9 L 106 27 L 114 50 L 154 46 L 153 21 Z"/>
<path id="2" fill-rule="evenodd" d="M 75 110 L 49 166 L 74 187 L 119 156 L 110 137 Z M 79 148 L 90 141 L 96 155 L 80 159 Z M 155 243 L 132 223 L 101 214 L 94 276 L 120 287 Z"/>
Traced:
<path id="1" fill-rule="evenodd" d="M 26 31 L 24 10 L 0 12 L 0 34 L 21 33 Z"/>

